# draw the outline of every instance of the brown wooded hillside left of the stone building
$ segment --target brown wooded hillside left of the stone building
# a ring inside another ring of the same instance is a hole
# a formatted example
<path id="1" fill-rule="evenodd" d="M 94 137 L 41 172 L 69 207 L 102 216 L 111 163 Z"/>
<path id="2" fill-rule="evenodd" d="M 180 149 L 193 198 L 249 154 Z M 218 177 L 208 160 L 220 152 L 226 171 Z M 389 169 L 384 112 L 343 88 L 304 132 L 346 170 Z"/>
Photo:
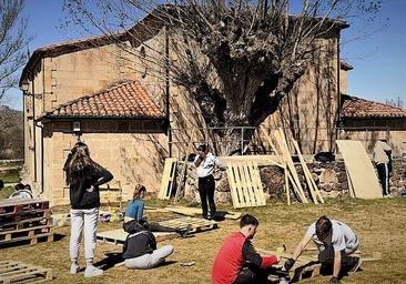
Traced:
<path id="1" fill-rule="evenodd" d="M 22 111 L 0 105 L 0 160 L 23 158 L 22 120 Z"/>

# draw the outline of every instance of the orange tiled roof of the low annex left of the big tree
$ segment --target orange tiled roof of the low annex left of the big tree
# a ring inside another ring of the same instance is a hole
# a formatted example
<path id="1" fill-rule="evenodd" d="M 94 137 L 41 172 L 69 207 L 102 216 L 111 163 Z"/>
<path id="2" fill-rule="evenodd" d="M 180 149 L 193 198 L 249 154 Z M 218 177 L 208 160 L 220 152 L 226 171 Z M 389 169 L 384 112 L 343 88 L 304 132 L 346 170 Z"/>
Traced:
<path id="1" fill-rule="evenodd" d="M 159 119 L 163 113 L 139 82 L 128 81 L 67 102 L 41 116 Z"/>

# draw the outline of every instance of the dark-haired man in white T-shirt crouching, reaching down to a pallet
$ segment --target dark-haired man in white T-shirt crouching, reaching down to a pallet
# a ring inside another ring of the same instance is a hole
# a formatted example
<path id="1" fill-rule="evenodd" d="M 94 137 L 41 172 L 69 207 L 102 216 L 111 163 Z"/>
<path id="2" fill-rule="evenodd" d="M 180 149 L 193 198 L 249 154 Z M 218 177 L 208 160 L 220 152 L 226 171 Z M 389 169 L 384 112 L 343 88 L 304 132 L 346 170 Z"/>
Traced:
<path id="1" fill-rule="evenodd" d="M 286 271 L 293 267 L 311 240 L 314 241 L 319 251 L 321 273 L 331 275 L 333 272 L 329 283 L 339 283 L 339 276 L 343 272 L 355 272 L 358 270 L 361 258 L 349 256 L 359 246 L 357 235 L 343 222 L 321 216 L 307 229 L 292 258 L 285 262 L 284 267 Z"/>

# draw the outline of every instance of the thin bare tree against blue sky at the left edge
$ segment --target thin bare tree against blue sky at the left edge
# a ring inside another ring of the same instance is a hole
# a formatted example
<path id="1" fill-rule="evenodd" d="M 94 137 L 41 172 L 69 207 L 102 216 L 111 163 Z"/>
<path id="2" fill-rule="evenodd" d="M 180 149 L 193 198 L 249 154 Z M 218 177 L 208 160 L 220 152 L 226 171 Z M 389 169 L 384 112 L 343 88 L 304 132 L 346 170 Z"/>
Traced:
<path id="1" fill-rule="evenodd" d="M 27 63 L 28 21 L 22 17 L 24 0 L 0 0 L 0 101 L 17 87 L 17 71 Z"/>

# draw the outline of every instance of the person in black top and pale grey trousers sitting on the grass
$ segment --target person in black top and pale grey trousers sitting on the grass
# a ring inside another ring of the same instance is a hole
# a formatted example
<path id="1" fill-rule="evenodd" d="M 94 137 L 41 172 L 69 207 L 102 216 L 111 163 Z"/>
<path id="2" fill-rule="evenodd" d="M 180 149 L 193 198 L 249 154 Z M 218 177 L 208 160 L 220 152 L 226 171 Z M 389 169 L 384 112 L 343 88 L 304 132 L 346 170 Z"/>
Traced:
<path id="1" fill-rule="evenodd" d="M 156 248 L 156 240 L 149 229 L 149 223 L 140 220 L 132 222 L 131 232 L 124 243 L 124 265 L 129 270 L 149 270 L 165 262 L 165 258 L 173 253 L 172 245 L 164 245 Z"/>

